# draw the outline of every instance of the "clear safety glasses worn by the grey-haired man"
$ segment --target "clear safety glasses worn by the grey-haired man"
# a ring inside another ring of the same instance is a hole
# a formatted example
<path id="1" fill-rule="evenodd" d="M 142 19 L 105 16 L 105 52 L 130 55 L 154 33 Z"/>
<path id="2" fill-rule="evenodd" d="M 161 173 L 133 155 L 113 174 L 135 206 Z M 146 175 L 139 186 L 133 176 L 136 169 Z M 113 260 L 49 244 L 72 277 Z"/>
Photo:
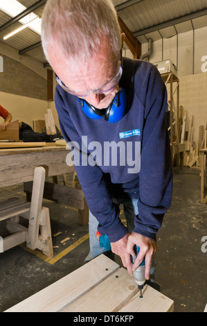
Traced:
<path id="1" fill-rule="evenodd" d="M 64 83 L 62 83 L 62 81 L 60 80 L 60 78 L 57 75 L 56 75 L 56 80 L 57 80 L 57 83 L 69 94 L 72 94 L 72 95 L 75 95 L 78 97 L 87 97 L 91 92 L 93 92 L 95 94 L 103 94 L 103 93 L 106 94 L 106 93 L 110 92 L 111 89 L 113 89 L 118 84 L 122 74 L 123 74 L 123 69 L 121 66 L 119 66 L 116 76 L 114 78 L 112 78 L 109 82 L 105 83 L 100 88 L 90 89 L 89 91 L 83 91 L 83 92 L 77 92 L 77 91 L 73 91 L 72 89 L 69 89 L 68 87 L 66 87 L 66 85 L 64 85 Z"/>

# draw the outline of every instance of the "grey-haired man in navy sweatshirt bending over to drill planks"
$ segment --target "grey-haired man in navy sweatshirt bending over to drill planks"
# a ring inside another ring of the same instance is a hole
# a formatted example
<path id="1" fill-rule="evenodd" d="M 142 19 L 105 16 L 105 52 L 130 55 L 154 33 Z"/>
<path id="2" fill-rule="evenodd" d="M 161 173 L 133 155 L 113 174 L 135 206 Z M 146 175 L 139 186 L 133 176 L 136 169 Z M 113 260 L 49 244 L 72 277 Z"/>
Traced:
<path id="1" fill-rule="evenodd" d="M 153 65 L 122 59 L 124 38 L 110 0 L 46 3 L 42 45 L 59 83 L 55 105 L 62 135 L 90 210 L 90 255 L 102 252 L 93 241 L 98 225 L 130 275 L 130 255 L 135 244 L 140 247 L 133 269 L 145 257 L 148 280 L 156 232 L 172 196 L 167 94 Z M 109 144 L 115 154 L 107 151 Z"/>

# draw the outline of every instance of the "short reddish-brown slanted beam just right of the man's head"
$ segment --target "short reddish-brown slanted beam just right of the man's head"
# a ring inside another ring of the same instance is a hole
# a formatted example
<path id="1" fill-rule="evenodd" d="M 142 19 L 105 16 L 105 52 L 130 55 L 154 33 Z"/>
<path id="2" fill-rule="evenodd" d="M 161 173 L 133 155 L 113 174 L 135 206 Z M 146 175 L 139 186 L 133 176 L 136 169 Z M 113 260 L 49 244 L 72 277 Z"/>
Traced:
<path id="1" fill-rule="evenodd" d="M 120 25 L 121 30 L 125 33 L 125 43 L 129 47 L 129 50 L 132 52 L 134 59 L 138 59 L 141 56 L 141 43 L 137 40 L 136 37 L 129 31 L 129 28 L 123 22 L 123 20 L 118 17 L 118 22 Z"/>

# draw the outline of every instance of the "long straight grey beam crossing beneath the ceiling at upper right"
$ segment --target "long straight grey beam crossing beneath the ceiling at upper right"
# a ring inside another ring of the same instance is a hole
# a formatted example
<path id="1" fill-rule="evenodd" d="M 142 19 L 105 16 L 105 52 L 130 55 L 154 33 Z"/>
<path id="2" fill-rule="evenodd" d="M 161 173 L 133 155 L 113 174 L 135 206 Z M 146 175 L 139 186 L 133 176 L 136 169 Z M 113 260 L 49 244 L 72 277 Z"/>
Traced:
<path id="1" fill-rule="evenodd" d="M 141 35 L 152 33 L 154 31 L 158 31 L 158 30 L 160 30 L 162 28 L 166 28 L 166 27 L 170 27 L 172 25 L 180 24 L 180 23 L 186 22 L 187 20 L 195 19 L 195 18 L 205 16 L 205 15 L 207 15 L 207 9 L 200 10 L 200 11 L 197 11 L 197 12 L 192 12 L 192 14 L 181 16 L 181 17 L 178 17 L 176 19 L 171 19 L 168 22 L 163 22 L 161 24 L 157 24 L 157 25 L 142 29 L 141 31 L 134 32 L 133 35 L 135 37 L 138 37 L 138 36 L 141 36 Z"/>

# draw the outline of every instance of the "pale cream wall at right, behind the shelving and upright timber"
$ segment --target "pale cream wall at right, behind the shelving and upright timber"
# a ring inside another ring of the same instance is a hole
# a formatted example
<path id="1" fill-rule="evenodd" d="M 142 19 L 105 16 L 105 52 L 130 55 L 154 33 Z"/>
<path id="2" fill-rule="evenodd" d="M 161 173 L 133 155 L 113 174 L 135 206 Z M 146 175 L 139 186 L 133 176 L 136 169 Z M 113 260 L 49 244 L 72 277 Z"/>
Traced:
<path id="1" fill-rule="evenodd" d="M 190 115 L 193 115 L 194 141 L 199 139 L 199 126 L 203 125 L 206 129 L 207 123 L 206 35 L 207 26 L 204 26 L 195 29 L 195 31 L 178 33 L 163 40 L 155 40 L 153 42 L 153 53 L 149 59 L 152 63 L 170 59 L 177 66 L 180 81 L 179 104 L 183 106 L 183 112 L 184 110 L 188 111 L 186 130 L 188 130 Z M 147 47 L 147 43 L 142 44 L 142 54 L 147 53 Z M 176 93 L 174 103 L 177 103 Z"/>

